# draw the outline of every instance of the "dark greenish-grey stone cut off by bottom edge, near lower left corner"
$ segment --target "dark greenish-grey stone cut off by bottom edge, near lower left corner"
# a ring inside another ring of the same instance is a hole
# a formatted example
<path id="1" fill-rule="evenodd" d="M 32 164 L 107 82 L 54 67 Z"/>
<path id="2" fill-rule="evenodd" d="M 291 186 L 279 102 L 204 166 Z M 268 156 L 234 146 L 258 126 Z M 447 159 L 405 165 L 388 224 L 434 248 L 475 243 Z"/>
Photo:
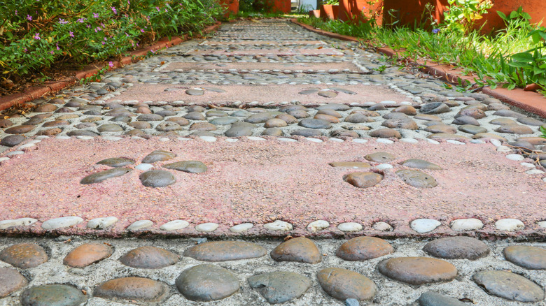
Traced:
<path id="1" fill-rule="evenodd" d="M 85 300 L 81 290 L 61 284 L 35 286 L 21 294 L 22 306 L 77 306 Z"/>

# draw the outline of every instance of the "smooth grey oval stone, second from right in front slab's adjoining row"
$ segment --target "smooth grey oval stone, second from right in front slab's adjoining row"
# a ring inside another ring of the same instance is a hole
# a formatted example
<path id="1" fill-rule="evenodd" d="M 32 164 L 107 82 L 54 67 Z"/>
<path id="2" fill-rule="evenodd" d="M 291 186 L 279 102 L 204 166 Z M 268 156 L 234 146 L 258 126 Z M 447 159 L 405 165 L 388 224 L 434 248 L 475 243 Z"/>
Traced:
<path id="1" fill-rule="evenodd" d="M 472 261 L 489 254 L 489 247 L 472 237 L 447 237 L 428 242 L 423 251 L 440 258 L 470 259 Z"/>

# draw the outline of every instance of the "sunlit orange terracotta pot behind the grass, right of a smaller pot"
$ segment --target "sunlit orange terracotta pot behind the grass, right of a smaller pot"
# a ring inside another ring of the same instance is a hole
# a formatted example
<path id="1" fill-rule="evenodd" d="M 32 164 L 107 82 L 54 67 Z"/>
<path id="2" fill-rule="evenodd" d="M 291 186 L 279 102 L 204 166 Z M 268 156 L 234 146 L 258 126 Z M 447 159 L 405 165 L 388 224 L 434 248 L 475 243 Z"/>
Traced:
<path id="1" fill-rule="evenodd" d="M 363 22 L 372 17 L 372 12 L 377 12 L 377 24 L 381 24 L 383 14 L 383 0 L 377 0 L 372 3 L 372 6 L 368 4 L 370 0 L 339 0 L 339 15 L 337 18 L 343 21 Z"/>

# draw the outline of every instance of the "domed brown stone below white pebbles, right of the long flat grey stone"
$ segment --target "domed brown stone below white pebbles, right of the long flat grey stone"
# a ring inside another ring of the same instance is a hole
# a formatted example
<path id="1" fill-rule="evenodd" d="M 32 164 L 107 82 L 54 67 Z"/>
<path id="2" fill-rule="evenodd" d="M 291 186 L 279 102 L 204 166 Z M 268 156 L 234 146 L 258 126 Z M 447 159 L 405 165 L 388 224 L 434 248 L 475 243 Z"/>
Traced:
<path id="1" fill-rule="evenodd" d="M 297 261 L 300 263 L 319 263 L 322 260 L 321 252 L 308 238 L 298 237 L 287 240 L 278 245 L 271 252 L 275 261 Z"/>

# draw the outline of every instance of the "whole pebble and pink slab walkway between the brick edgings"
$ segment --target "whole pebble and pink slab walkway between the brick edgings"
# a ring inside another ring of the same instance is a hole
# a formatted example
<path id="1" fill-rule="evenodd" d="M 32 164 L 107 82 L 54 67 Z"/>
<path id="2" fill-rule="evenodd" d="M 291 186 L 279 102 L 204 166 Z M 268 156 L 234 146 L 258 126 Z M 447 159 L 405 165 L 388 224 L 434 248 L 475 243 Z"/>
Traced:
<path id="1" fill-rule="evenodd" d="M 0 305 L 546 305 L 545 119 L 484 94 L 255 20 L 34 103 Z"/>

